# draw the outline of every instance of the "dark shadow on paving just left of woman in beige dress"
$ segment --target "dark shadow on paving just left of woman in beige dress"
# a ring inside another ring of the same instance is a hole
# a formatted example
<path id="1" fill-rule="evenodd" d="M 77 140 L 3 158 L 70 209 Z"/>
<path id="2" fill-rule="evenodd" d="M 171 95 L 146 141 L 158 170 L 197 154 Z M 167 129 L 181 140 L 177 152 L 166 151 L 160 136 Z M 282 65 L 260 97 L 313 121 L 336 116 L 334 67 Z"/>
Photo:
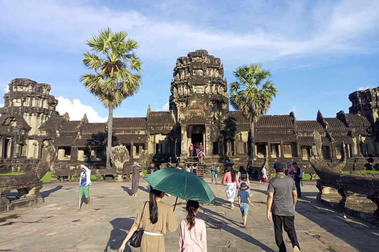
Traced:
<path id="1" fill-rule="evenodd" d="M 104 252 L 108 251 L 117 251 L 121 246 L 122 241 L 125 239 L 127 235 L 127 231 L 129 231 L 130 227 L 134 223 L 134 219 L 132 218 L 116 218 L 110 223 L 113 225 L 113 230 L 111 231 L 111 235 L 109 237 L 108 243 L 105 246 Z M 130 246 L 128 243 L 125 245 L 124 252 L 131 252 Z"/>

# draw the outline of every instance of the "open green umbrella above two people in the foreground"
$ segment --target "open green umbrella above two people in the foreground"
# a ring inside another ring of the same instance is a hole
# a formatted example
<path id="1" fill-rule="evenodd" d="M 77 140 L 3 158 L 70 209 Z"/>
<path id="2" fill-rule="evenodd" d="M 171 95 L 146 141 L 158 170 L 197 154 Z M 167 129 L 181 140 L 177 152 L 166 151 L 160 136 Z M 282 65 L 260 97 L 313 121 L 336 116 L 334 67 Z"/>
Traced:
<path id="1" fill-rule="evenodd" d="M 167 167 L 144 177 L 153 189 L 164 191 L 181 199 L 211 203 L 216 197 L 208 184 L 186 170 Z"/>

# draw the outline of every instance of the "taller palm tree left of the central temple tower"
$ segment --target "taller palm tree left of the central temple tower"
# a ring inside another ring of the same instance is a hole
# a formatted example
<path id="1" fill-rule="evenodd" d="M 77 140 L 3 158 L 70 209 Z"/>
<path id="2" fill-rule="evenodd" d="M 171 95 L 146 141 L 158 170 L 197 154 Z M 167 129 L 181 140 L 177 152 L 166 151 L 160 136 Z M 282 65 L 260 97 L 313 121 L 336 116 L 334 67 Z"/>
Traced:
<path id="1" fill-rule="evenodd" d="M 111 168 L 113 110 L 123 99 L 136 94 L 142 83 L 142 62 L 133 51 L 139 44 L 133 39 L 126 40 L 127 35 L 107 28 L 100 30 L 98 36 L 91 36 L 86 43 L 91 53 L 85 51 L 83 63 L 93 72 L 80 76 L 85 89 L 109 108 L 107 169 Z"/>

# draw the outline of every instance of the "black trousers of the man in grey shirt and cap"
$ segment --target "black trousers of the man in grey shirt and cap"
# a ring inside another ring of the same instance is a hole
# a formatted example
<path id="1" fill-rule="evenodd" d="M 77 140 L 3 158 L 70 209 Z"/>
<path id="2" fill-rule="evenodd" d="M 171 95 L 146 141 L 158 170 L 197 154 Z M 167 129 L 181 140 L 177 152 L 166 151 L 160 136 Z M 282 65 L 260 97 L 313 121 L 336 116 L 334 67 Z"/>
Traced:
<path id="1" fill-rule="evenodd" d="M 292 247 L 298 246 L 298 237 L 296 236 L 296 230 L 294 225 L 295 216 L 279 216 L 272 214 L 272 222 L 274 222 L 275 242 L 279 248 L 279 252 L 287 252 L 286 245 L 283 240 L 283 230 L 287 232 L 288 238 L 290 238 Z"/>

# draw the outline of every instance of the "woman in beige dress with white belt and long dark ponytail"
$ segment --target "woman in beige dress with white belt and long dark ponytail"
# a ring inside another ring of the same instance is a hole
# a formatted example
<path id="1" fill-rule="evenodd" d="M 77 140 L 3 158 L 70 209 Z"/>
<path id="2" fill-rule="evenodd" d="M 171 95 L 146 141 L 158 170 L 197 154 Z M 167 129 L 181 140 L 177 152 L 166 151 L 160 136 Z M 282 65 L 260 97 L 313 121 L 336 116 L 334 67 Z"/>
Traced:
<path id="1" fill-rule="evenodd" d="M 130 240 L 134 231 L 137 230 L 142 212 L 144 213 L 140 227 L 144 229 L 144 235 L 141 240 L 141 252 L 166 251 L 163 235 L 167 230 L 170 232 L 175 231 L 178 228 L 178 221 L 176 221 L 171 205 L 162 202 L 163 196 L 163 191 L 150 188 L 150 201 L 146 204 L 145 211 L 143 211 L 145 202 L 140 206 L 137 218 L 118 252 L 124 251 L 125 244 Z"/>

